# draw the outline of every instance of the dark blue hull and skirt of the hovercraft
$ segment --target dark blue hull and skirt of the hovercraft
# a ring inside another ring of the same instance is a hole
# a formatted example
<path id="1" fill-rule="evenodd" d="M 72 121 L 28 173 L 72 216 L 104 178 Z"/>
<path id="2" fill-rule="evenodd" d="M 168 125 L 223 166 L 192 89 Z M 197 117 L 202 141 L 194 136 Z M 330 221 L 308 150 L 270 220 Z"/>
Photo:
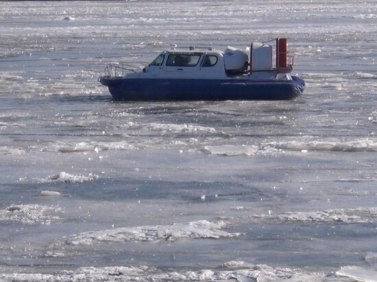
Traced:
<path id="1" fill-rule="evenodd" d="M 125 79 L 100 77 L 114 101 L 290 100 L 304 92 L 305 82 L 250 79 Z"/>

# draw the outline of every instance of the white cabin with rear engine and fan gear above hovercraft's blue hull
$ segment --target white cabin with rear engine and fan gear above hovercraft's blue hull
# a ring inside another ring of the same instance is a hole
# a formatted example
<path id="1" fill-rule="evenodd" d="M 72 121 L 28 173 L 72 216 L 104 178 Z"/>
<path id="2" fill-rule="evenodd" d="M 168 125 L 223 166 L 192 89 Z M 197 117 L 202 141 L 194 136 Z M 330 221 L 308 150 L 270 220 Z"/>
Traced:
<path id="1" fill-rule="evenodd" d="M 287 64 L 287 47 L 283 48 L 287 41 L 280 43 L 280 40 L 284 38 L 277 40 L 277 46 L 285 51 L 279 52 L 279 48 L 276 47 L 275 66 L 273 47 L 265 43 L 253 42 L 246 49 L 227 47 L 225 52 L 211 48 L 173 48 L 160 53 L 144 68 L 144 77 L 221 79 L 250 76 L 255 73 L 290 73 L 293 60 L 292 64 Z"/>

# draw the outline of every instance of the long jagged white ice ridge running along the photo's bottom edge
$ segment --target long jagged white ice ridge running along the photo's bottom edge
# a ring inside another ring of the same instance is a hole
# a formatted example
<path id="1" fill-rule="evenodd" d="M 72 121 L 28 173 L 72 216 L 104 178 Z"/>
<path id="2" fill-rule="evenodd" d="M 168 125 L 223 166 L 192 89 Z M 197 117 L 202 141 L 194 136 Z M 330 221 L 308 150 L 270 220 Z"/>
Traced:
<path id="1" fill-rule="evenodd" d="M 235 267 L 236 265 L 236 267 Z M 5 281 L 324 281 L 325 274 L 291 268 L 273 268 L 264 264 L 230 261 L 221 268 L 163 272 L 150 266 L 82 267 L 55 274 L 0 274 Z M 340 280 L 332 280 L 340 281 Z"/>

